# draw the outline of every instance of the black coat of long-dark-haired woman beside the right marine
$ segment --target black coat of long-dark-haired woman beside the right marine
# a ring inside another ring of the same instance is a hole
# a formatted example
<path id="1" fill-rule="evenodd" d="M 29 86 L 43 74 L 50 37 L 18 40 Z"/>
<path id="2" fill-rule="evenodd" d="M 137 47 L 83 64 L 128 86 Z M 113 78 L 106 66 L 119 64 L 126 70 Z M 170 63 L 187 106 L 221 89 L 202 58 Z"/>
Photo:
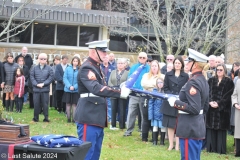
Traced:
<path id="1" fill-rule="evenodd" d="M 188 74 L 183 71 L 181 71 L 178 78 L 175 77 L 174 70 L 167 72 L 164 78 L 164 86 L 163 86 L 164 93 L 178 95 L 181 88 L 186 84 L 188 79 L 189 79 Z M 177 114 L 178 114 L 177 109 L 171 107 L 167 101 L 163 102 L 163 107 L 161 109 L 161 112 L 164 115 L 174 116 L 174 117 L 177 117 Z"/>

